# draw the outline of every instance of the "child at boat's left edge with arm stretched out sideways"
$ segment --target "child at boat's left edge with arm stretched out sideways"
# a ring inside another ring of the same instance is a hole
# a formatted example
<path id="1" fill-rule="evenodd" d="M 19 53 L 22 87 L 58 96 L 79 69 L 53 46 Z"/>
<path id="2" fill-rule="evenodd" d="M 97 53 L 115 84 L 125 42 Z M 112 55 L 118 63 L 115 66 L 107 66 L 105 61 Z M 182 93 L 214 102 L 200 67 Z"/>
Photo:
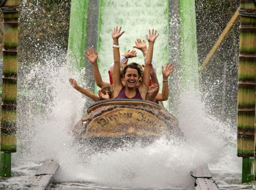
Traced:
<path id="1" fill-rule="evenodd" d="M 99 90 L 99 96 L 96 96 L 90 90 L 87 90 L 87 89 L 79 86 L 75 79 L 70 78 L 69 81 L 74 89 L 81 92 L 83 95 L 86 95 L 87 97 L 92 98 L 94 102 L 112 98 L 111 86 L 103 86 L 102 89 Z"/>

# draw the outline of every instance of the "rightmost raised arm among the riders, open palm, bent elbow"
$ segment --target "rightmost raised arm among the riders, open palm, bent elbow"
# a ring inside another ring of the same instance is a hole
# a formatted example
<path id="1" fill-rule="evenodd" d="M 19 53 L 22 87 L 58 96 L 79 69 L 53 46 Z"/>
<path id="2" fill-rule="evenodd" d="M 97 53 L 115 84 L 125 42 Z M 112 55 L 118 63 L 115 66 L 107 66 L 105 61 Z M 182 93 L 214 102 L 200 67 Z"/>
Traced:
<path id="1" fill-rule="evenodd" d="M 167 63 L 165 67 L 162 66 L 162 74 L 163 74 L 163 88 L 162 93 L 158 93 L 156 99 L 158 101 L 166 101 L 169 98 L 169 84 L 168 77 L 175 70 L 174 65 L 171 63 Z"/>

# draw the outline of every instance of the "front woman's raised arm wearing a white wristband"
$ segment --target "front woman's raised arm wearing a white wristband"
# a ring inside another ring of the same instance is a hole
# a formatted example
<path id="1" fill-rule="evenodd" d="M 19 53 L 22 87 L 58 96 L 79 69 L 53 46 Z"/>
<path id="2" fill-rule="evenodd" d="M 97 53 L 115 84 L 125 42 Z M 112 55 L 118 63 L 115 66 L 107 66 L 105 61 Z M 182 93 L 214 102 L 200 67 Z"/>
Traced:
<path id="1" fill-rule="evenodd" d="M 122 81 L 120 79 L 120 52 L 119 52 L 119 41 L 118 38 L 124 33 L 121 32 L 122 27 L 118 29 L 116 26 L 112 31 L 113 38 L 113 57 L 114 57 L 114 68 L 113 68 L 113 91 L 116 97 L 119 91 L 122 89 Z"/>

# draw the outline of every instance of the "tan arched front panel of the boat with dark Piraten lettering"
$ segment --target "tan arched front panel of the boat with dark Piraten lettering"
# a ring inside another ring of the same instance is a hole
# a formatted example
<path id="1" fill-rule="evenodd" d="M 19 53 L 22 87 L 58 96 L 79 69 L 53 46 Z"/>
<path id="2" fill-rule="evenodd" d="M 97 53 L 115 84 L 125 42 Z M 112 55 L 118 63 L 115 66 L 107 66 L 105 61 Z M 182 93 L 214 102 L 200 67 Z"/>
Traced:
<path id="1" fill-rule="evenodd" d="M 120 135 L 156 135 L 167 130 L 166 124 L 145 110 L 117 108 L 102 113 L 87 126 L 86 135 L 120 136 Z"/>

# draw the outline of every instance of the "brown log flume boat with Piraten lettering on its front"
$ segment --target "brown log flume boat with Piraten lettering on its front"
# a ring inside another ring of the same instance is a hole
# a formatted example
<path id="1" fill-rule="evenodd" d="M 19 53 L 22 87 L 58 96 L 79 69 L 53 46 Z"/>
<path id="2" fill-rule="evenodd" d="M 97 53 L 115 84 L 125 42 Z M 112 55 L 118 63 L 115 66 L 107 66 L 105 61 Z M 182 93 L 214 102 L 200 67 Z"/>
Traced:
<path id="1" fill-rule="evenodd" d="M 110 99 L 92 104 L 72 130 L 80 143 L 98 148 L 125 142 L 153 142 L 162 136 L 180 136 L 177 119 L 151 101 Z"/>

